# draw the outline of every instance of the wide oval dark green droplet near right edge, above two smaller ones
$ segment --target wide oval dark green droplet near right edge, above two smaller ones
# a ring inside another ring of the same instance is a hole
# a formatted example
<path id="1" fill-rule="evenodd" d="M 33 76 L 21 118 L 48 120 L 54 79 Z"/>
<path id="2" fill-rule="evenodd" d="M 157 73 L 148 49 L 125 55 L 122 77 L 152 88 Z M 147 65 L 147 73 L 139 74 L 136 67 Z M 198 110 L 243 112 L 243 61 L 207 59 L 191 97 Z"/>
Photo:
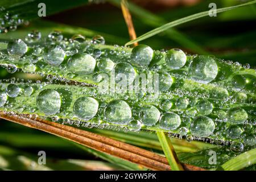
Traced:
<path id="1" fill-rule="evenodd" d="M 248 114 L 242 108 L 232 108 L 228 112 L 228 122 L 233 124 L 241 124 L 246 121 Z"/>

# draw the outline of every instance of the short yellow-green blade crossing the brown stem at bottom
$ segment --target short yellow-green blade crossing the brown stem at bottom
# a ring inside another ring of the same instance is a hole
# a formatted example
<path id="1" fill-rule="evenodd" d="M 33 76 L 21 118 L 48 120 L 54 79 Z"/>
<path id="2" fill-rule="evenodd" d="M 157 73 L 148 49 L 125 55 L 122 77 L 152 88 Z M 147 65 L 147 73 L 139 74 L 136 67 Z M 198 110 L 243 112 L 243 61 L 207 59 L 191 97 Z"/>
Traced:
<path id="1" fill-rule="evenodd" d="M 164 154 L 168 160 L 168 163 L 171 166 L 172 171 L 183 171 L 183 167 L 177 158 L 177 155 L 174 151 L 174 147 L 172 146 L 171 140 L 163 131 L 156 131 L 158 135 L 159 142 L 163 148 Z"/>

